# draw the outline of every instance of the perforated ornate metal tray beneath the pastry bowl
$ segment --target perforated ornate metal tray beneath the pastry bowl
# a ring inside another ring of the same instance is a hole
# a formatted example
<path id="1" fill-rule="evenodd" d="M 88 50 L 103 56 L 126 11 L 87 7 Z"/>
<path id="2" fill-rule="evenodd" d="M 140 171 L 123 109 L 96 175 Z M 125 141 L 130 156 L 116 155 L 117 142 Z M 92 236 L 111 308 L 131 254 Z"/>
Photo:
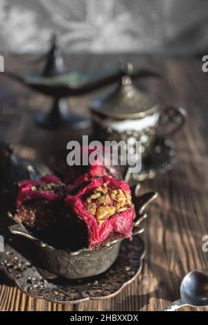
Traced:
<path id="1" fill-rule="evenodd" d="M 0 254 L 0 270 L 27 295 L 59 303 L 75 304 L 117 295 L 141 272 L 144 258 L 144 242 L 135 236 L 132 241 L 125 240 L 121 243 L 118 259 L 105 273 L 69 281 L 36 268 L 33 262 L 12 248 L 13 241 L 14 239 L 9 239 L 6 252 Z"/>

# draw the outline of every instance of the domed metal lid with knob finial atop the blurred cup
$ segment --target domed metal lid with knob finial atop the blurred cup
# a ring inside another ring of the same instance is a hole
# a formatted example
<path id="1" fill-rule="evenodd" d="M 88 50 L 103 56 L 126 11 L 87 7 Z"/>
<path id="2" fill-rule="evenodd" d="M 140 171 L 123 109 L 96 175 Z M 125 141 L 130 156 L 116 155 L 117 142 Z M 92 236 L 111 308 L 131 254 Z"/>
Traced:
<path id="1" fill-rule="evenodd" d="M 128 63 L 126 74 L 121 76 L 119 84 L 89 104 L 92 113 L 118 120 L 143 118 L 155 113 L 158 109 L 157 104 L 132 84 L 132 73 L 133 66 Z"/>

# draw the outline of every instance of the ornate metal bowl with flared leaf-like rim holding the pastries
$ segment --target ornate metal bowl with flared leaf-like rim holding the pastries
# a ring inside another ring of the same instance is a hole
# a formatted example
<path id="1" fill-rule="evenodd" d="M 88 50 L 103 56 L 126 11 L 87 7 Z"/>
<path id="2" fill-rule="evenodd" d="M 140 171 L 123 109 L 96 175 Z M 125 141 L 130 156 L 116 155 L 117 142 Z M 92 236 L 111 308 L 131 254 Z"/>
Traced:
<path id="1" fill-rule="evenodd" d="M 137 218 L 132 232 L 133 236 L 144 231 L 139 226 L 139 223 L 146 217 L 146 214 L 143 213 L 144 208 L 157 197 L 155 192 L 138 196 L 138 189 L 139 185 L 134 187 L 132 192 L 132 201 L 137 211 Z M 82 279 L 105 272 L 116 261 L 121 241 L 123 241 L 121 237 L 112 237 L 99 248 L 94 248 L 94 250 L 83 248 L 71 252 L 67 249 L 57 249 L 37 239 L 21 223 L 11 225 L 9 229 L 12 234 L 24 236 L 35 243 L 38 260 L 46 270 L 67 279 Z"/>

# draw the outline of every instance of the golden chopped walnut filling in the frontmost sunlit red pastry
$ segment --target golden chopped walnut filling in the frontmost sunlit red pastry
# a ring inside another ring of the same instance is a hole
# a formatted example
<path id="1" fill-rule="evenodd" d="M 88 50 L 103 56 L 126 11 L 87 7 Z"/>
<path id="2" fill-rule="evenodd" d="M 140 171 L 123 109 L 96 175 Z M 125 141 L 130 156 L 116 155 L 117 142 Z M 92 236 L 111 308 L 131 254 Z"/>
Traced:
<path id="1" fill-rule="evenodd" d="M 116 213 L 128 208 L 134 209 L 129 192 L 111 189 L 106 183 L 94 189 L 94 192 L 85 199 L 85 203 L 87 203 L 87 212 L 96 217 L 98 225 L 102 225 L 105 219 Z"/>

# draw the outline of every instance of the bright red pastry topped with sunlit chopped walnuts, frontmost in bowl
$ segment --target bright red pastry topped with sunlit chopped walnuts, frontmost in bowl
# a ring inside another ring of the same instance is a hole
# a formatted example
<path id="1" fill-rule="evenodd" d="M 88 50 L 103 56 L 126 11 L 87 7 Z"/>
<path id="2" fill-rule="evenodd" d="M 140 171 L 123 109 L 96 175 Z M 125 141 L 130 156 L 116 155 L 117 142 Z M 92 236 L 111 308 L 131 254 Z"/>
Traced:
<path id="1" fill-rule="evenodd" d="M 101 244 L 112 233 L 131 237 L 135 208 L 124 180 L 92 178 L 74 192 L 65 203 L 87 226 L 89 247 Z"/>

